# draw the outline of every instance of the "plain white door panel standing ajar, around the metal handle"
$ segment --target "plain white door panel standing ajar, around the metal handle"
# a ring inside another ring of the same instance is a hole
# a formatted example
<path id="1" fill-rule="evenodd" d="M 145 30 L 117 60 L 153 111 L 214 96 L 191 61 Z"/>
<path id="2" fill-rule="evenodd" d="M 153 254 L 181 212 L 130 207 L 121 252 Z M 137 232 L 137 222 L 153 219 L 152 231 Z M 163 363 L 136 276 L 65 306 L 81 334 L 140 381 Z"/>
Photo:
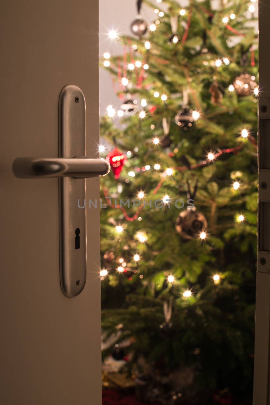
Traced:
<path id="1" fill-rule="evenodd" d="M 99 211 L 87 210 L 86 284 L 69 298 L 60 282 L 59 180 L 12 171 L 18 157 L 59 156 L 59 94 L 68 84 L 84 94 L 86 156 L 98 157 L 98 0 L 4 0 L 0 26 L 0 403 L 100 405 Z M 86 183 L 86 200 L 98 199 L 99 179 Z"/>

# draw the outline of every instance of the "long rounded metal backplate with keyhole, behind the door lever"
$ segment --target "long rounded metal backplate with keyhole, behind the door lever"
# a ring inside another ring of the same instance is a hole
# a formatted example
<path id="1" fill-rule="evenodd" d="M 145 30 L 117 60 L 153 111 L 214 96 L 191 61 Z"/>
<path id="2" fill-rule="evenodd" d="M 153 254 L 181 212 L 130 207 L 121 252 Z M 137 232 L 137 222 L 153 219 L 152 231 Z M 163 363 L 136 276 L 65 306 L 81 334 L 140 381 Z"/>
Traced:
<path id="1" fill-rule="evenodd" d="M 82 90 L 66 85 L 59 96 L 59 157 L 86 156 L 86 106 Z M 86 283 L 86 179 L 59 178 L 60 280 L 74 297 Z"/>

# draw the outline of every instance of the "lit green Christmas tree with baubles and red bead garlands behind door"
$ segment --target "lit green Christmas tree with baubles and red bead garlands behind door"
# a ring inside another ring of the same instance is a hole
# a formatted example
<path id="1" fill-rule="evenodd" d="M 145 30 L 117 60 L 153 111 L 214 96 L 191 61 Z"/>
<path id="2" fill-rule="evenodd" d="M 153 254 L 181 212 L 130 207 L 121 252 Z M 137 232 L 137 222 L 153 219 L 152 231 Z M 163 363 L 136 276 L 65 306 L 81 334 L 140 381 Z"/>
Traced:
<path id="1" fill-rule="evenodd" d="M 136 4 L 132 36 L 109 32 L 122 55 L 101 60 L 119 96 L 100 126 L 111 165 L 101 179 L 104 356 L 129 342 L 126 369 L 145 400 L 202 405 L 222 390 L 250 399 L 254 2 Z"/>

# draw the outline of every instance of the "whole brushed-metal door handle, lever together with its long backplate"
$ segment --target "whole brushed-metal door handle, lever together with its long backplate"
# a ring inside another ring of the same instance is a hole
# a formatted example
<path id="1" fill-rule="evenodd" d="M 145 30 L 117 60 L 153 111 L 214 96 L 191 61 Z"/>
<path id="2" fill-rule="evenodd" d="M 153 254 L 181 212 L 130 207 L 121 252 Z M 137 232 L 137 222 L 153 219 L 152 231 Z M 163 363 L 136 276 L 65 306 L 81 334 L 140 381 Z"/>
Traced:
<path id="1" fill-rule="evenodd" d="M 12 168 L 20 179 L 59 177 L 60 283 L 66 296 L 75 297 L 86 283 L 86 177 L 105 176 L 110 164 L 86 158 L 86 104 L 79 87 L 61 90 L 58 124 L 58 158 L 17 158 Z"/>

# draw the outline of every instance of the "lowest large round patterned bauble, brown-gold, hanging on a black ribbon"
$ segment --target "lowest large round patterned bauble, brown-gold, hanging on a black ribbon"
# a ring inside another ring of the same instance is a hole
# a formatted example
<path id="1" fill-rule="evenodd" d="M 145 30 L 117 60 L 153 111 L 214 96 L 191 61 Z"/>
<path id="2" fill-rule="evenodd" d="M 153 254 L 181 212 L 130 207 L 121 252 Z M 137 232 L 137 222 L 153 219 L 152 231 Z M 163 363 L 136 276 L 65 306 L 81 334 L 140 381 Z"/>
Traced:
<path id="1" fill-rule="evenodd" d="M 194 239 L 207 228 L 207 220 L 195 209 L 181 211 L 176 219 L 175 228 L 184 239 Z"/>

